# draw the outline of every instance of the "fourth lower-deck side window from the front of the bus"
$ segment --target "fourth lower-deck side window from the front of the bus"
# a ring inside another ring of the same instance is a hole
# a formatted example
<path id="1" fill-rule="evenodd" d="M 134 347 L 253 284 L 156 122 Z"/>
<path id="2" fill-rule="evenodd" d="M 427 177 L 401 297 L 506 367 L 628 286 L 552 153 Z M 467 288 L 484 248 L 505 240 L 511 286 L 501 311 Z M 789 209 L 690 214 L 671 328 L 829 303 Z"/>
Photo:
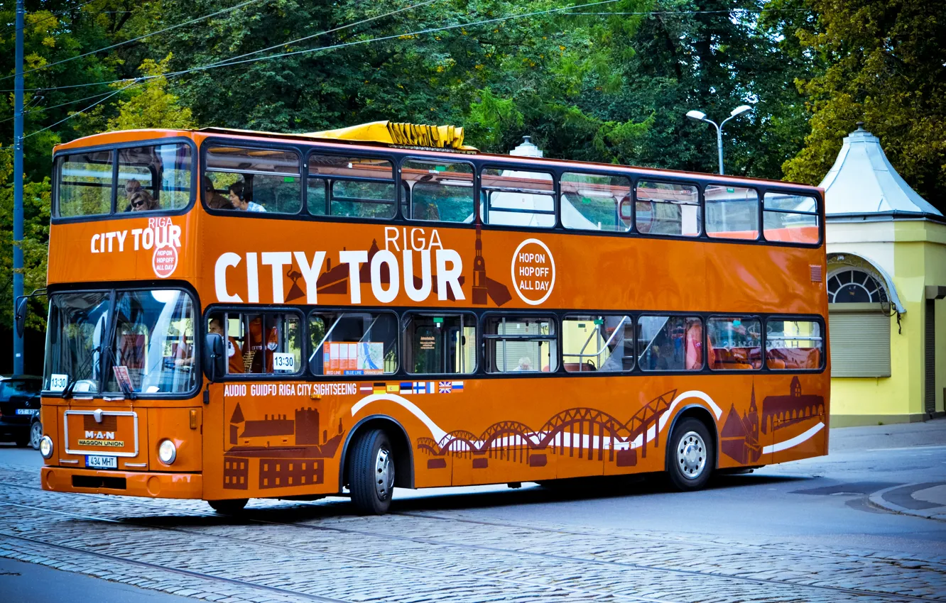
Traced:
<path id="1" fill-rule="evenodd" d="M 486 320 L 488 372 L 554 372 L 558 368 L 555 319 L 492 317 Z"/>

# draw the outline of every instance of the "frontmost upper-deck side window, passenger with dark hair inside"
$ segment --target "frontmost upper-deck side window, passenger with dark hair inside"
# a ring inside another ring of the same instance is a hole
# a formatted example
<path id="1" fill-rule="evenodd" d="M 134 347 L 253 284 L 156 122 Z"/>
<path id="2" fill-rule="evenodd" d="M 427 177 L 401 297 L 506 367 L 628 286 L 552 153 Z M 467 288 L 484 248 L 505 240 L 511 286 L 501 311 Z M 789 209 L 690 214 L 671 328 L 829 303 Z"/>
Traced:
<path id="1" fill-rule="evenodd" d="M 204 191 L 204 202 L 211 209 L 276 214 L 302 209 L 302 165 L 293 150 L 211 146 L 206 177 L 213 191 Z"/>

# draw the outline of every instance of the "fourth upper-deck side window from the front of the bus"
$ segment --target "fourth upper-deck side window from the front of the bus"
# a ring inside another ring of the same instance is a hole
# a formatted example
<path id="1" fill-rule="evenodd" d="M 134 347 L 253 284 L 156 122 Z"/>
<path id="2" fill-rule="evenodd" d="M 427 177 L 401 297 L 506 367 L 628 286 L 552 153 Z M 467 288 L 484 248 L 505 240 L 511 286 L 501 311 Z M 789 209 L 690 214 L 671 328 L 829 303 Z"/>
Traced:
<path id="1" fill-rule="evenodd" d="M 555 226 L 552 174 L 487 167 L 482 170 L 481 190 L 482 221 L 486 224 Z"/>

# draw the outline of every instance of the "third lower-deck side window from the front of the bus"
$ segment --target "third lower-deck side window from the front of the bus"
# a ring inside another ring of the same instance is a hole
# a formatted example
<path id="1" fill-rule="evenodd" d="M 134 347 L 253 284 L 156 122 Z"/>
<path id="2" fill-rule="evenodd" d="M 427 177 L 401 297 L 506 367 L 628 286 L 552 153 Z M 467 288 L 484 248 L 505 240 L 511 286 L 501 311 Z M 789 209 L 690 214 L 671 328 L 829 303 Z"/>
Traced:
<path id="1" fill-rule="evenodd" d="M 476 370 L 476 316 L 411 315 L 404 356 L 414 374 L 469 374 Z"/>

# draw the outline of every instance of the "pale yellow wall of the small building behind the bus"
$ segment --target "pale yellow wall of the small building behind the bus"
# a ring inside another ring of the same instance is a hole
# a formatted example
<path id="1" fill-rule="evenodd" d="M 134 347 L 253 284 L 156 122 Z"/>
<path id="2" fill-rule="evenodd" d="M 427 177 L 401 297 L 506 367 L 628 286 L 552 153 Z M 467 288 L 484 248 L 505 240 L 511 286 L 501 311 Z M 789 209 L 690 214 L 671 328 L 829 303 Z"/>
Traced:
<path id="1" fill-rule="evenodd" d="M 828 244 L 829 253 L 855 253 L 883 267 L 906 310 L 901 317 L 902 333 L 898 333 L 896 316 L 890 319 L 890 377 L 832 379 L 832 421 L 835 425 L 919 421 L 924 412 L 925 286 L 946 285 L 946 225 L 927 220 L 830 222 Z M 942 411 L 946 302 L 936 303 L 936 407 Z"/>

